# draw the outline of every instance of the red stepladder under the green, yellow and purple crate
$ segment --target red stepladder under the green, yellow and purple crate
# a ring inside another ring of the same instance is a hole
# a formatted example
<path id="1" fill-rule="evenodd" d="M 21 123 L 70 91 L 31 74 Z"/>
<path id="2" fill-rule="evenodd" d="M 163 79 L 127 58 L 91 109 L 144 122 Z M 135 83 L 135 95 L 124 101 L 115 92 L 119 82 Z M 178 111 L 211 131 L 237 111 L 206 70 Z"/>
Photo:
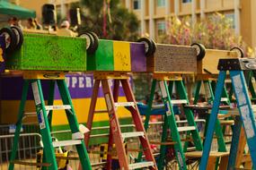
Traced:
<path id="1" fill-rule="evenodd" d="M 119 157 L 119 167 L 120 169 L 138 169 L 138 168 L 149 168 L 157 169 L 156 163 L 154 161 L 154 156 L 152 150 L 150 149 L 149 142 L 147 140 L 146 131 L 144 129 L 141 117 L 137 109 L 137 103 L 134 98 L 132 89 L 129 85 L 129 75 L 124 72 L 94 72 L 93 74 L 95 82 L 93 86 L 93 96 L 91 99 L 91 105 L 89 109 L 89 115 L 87 119 L 86 126 L 89 130 L 92 129 L 93 125 L 93 115 L 97 113 L 95 111 L 95 106 L 98 98 L 98 91 L 100 89 L 100 83 L 102 83 L 102 90 L 108 109 L 108 114 L 110 117 L 110 136 L 108 153 L 111 153 L 113 144 L 117 150 L 117 156 Z M 110 89 L 110 80 L 114 81 L 113 90 Z M 119 98 L 119 85 L 121 84 L 127 102 L 120 103 Z M 118 107 L 126 106 L 131 112 L 132 120 L 135 123 L 135 128 L 137 132 L 121 132 L 118 118 Z M 123 145 L 124 140 L 127 138 L 137 137 L 142 145 L 145 161 L 137 162 L 135 164 L 128 164 L 128 157 L 126 155 L 126 150 Z M 84 135 L 85 145 L 88 147 L 90 139 L 90 132 Z M 107 156 L 107 169 L 111 169 L 111 155 Z"/>

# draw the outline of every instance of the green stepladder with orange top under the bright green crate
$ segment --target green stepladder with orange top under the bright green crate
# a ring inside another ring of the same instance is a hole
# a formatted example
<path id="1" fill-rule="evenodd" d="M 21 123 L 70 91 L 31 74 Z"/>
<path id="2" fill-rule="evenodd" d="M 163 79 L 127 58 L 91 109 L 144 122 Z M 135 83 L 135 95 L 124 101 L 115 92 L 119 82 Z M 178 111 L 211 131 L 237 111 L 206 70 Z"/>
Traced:
<path id="1" fill-rule="evenodd" d="M 50 75 L 52 75 L 52 77 Z M 24 83 L 22 89 L 22 100 L 20 103 L 16 130 L 14 133 L 13 149 L 10 158 L 9 170 L 13 170 L 14 164 L 16 164 L 17 162 L 21 163 L 19 161 L 15 161 L 15 158 L 22 128 L 22 118 L 23 116 L 26 116 L 26 114 L 24 113 L 24 107 L 30 85 L 36 106 L 36 113 L 34 113 L 34 115 L 38 117 L 38 122 L 40 125 L 40 135 L 43 145 L 43 163 L 37 163 L 35 164 L 35 166 L 42 166 L 42 169 L 57 170 L 57 158 L 55 155 L 55 148 L 75 145 L 83 169 L 92 169 L 87 150 L 84 145 L 84 133 L 79 132 L 79 125 L 76 120 L 75 110 L 71 101 L 69 91 L 66 87 L 64 73 L 26 71 L 23 72 L 23 79 Z M 45 105 L 43 91 L 41 87 L 41 81 L 45 80 L 49 81 L 49 106 Z M 63 102 L 63 106 L 53 106 L 56 84 Z M 65 110 L 66 112 L 66 117 L 72 132 L 72 140 L 52 141 L 52 137 L 50 134 L 52 111 L 60 109 Z"/>

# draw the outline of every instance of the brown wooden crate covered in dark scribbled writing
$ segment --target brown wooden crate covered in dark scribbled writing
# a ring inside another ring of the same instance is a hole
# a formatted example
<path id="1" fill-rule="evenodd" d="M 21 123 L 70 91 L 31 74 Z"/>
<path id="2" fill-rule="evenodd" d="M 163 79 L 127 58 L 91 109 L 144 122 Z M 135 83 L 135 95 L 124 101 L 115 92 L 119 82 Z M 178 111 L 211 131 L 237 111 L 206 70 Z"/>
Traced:
<path id="1" fill-rule="evenodd" d="M 154 55 L 146 58 L 147 72 L 194 73 L 197 72 L 196 48 L 157 44 Z"/>

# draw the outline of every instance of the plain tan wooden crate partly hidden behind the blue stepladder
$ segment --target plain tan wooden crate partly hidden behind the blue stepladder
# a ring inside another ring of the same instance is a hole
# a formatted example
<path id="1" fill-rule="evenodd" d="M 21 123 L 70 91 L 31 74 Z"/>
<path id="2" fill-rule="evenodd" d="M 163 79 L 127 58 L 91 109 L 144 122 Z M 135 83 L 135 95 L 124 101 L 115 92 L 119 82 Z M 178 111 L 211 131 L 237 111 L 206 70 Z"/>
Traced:
<path id="1" fill-rule="evenodd" d="M 235 51 L 206 49 L 206 55 L 201 61 L 198 61 L 199 74 L 218 74 L 218 60 L 220 58 L 237 58 L 239 54 Z"/>

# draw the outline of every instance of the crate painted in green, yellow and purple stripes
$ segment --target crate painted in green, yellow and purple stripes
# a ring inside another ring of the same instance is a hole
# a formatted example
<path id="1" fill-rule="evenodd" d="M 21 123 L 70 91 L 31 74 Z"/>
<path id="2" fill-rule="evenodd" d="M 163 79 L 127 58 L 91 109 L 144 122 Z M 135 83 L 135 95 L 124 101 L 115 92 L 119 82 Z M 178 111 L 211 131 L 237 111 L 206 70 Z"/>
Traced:
<path id="1" fill-rule="evenodd" d="M 145 45 L 100 39 L 95 53 L 88 54 L 87 70 L 146 72 Z"/>

